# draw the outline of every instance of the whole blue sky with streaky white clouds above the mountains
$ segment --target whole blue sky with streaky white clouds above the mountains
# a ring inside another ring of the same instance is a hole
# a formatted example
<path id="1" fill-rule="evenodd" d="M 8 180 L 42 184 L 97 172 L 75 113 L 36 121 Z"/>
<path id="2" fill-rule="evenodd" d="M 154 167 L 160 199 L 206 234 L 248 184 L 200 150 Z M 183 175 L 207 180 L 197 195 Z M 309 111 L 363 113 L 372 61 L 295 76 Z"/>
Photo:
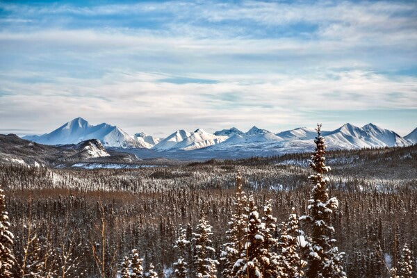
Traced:
<path id="1" fill-rule="evenodd" d="M 1 1 L 0 133 L 417 126 L 416 1 Z"/>

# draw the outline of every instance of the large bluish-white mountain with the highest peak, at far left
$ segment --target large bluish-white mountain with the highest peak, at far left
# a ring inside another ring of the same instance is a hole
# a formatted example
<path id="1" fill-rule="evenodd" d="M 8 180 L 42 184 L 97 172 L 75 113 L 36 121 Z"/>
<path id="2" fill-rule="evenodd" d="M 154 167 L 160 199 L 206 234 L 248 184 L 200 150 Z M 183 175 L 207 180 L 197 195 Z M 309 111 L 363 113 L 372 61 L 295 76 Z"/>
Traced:
<path id="1" fill-rule="evenodd" d="M 44 145 L 70 145 L 84 140 L 98 139 L 105 147 L 146 147 L 117 126 L 105 123 L 93 126 L 81 117 L 42 136 L 23 138 Z"/>

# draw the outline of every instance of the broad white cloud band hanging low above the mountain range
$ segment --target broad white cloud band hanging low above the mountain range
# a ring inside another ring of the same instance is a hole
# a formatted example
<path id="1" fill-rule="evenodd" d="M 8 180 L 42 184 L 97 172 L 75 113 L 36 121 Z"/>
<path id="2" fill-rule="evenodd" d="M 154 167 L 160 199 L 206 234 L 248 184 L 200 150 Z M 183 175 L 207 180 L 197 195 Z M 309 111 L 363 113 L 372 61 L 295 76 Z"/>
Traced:
<path id="1" fill-rule="evenodd" d="M 108 74 L 88 83 L 83 79 L 35 84 L 1 81 L 4 90 L 24 93 L 0 97 L 0 115 L 5 122 L 36 117 L 32 126 L 39 131 L 81 115 L 93 122 L 119 124 L 131 133 L 145 129 L 166 135 L 177 128 L 236 124 L 247 128 L 256 123 L 276 130 L 279 124 L 306 122 L 302 111 L 417 108 L 416 78 L 390 80 L 357 71 L 336 75 L 329 79 L 326 74 L 280 74 L 263 82 L 259 76 L 216 76 L 220 82 L 213 84 L 158 83 L 167 75 L 143 72 Z M 398 95 L 393 97 L 392 92 Z"/>

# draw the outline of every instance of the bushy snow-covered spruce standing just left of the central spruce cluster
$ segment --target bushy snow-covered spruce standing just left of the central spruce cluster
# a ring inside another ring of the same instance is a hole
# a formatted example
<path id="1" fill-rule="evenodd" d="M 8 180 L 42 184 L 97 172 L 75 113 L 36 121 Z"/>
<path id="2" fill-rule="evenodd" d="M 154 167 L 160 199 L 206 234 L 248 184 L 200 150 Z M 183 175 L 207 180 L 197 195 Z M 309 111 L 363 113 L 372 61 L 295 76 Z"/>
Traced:
<path id="1" fill-rule="evenodd" d="M 193 241 L 195 243 L 195 256 L 193 260 L 195 268 L 195 276 L 198 278 L 215 278 L 216 276 L 216 265 L 218 261 L 211 258 L 215 253 L 213 247 L 211 247 L 210 236 L 211 226 L 207 223 L 204 216 L 200 218 L 199 224 L 193 233 Z"/>

